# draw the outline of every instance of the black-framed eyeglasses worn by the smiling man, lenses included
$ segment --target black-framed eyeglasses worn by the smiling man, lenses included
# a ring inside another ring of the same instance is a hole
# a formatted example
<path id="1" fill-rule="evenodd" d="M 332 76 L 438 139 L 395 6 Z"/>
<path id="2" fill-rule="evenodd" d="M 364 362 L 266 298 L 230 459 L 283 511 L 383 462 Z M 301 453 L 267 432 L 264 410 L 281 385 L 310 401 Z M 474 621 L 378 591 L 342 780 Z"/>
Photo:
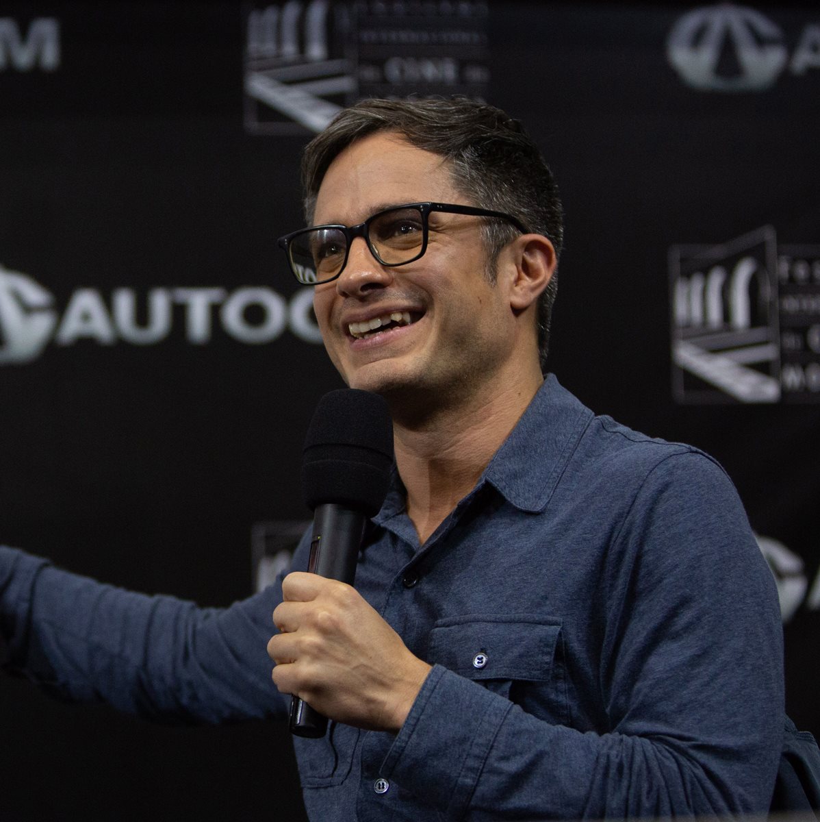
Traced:
<path id="1" fill-rule="evenodd" d="M 408 203 L 379 211 L 358 225 L 314 225 L 300 229 L 280 237 L 279 245 L 300 283 L 329 283 L 342 273 L 350 245 L 357 237 L 364 238 L 371 254 L 383 266 L 404 266 L 417 260 L 427 250 L 431 211 L 504 219 L 521 233 L 528 233 L 520 220 L 501 211 L 452 203 Z"/>

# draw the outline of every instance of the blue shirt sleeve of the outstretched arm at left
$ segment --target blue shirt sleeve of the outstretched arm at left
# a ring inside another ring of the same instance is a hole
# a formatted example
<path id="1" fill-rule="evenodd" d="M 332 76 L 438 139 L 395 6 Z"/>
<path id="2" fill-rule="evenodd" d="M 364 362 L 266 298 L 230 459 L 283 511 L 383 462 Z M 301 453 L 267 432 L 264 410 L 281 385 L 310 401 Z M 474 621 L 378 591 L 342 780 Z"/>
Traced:
<path id="1" fill-rule="evenodd" d="M 279 584 L 200 608 L 101 584 L 0 547 L 0 661 L 55 696 L 166 722 L 284 717 L 266 644 Z"/>

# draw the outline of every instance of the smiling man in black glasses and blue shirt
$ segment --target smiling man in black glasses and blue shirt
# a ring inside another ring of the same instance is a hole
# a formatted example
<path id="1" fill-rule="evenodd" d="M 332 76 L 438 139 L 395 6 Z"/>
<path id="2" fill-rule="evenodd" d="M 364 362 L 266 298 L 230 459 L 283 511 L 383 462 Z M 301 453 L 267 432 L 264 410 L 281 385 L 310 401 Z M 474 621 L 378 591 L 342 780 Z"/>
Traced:
<path id="1" fill-rule="evenodd" d="M 12 664 L 146 715 L 284 716 L 272 610 L 275 685 L 331 719 L 295 741 L 313 819 L 767 811 L 772 577 L 712 459 L 542 376 L 561 226 L 536 146 L 468 100 L 367 101 L 304 171 L 288 260 L 344 380 L 394 421 L 356 588 L 304 573 L 306 540 L 223 612 L 2 549 Z"/>

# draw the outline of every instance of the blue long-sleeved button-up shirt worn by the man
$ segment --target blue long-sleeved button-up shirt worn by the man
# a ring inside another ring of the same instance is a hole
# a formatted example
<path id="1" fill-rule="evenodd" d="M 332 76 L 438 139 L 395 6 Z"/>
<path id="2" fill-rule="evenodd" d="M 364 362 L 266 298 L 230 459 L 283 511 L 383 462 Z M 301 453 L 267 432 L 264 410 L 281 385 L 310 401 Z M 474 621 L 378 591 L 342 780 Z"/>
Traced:
<path id="1" fill-rule="evenodd" d="M 294 741 L 311 819 L 768 810 L 776 589 L 702 452 L 593 415 L 551 376 L 423 546 L 396 478 L 356 587 L 434 667 L 398 735 L 330 723 Z M 196 721 L 286 714 L 265 654 L 279 585 L 199 609 L 0 549 L 0 594 L 12 665 L 62 695 Z"/>

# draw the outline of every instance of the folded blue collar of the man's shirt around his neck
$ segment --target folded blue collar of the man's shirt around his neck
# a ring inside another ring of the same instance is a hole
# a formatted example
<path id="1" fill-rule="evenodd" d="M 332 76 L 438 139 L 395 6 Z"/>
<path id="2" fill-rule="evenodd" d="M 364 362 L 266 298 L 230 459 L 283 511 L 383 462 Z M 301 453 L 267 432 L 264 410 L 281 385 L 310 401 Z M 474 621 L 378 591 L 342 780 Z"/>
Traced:
<path id="1" fill-rule="evenodd" d="M 548 374 L 477 487 L 490 483 L 519 510 L 544 510 L 592 417 L 592 411 Z M 385 504 L 373 522 L 383 525 L 404 510 L 404 485 L 394 465 Z"/>

